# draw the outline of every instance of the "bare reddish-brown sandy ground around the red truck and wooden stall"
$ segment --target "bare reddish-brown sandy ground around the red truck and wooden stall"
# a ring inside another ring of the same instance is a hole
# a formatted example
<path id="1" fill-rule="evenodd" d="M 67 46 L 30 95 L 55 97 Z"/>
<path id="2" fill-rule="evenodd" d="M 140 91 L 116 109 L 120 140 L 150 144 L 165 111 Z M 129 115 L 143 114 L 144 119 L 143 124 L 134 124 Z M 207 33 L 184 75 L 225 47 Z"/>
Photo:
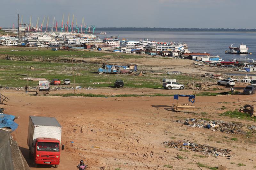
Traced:
<path id="1" fill-rule="evenodd" d="M 196 107 L 199 108 L 199 113 L 207 113 L 202 115 L 172 112 L 172 97 L 75 98 L 31 96 L 19 91 L 1 93 L 10 98 L 9 105 L 1 105 L 5 108 L 5 113 L 20 116 L 15 120 L 19 127 L 12 134 L 32 170 L 49 169 L 49 166 L 34 168 L 32 161 L 28 159 L 29 115 L 56 117 L 62 125 L 61 142 L 65 144 L 65 150 L 61 151 L 60 170 L 76 169 L 80 159 L 88 164 L 88 169 L 100 169 L 106 165 L 110 169 L 122 170 L 169 169 L 164 165 L 171 165 L 173 169 L 200 169 L 197 162 L 209 166 L 225 165 L 229 169 L 255 169 L 254 135 L 246 138 L 244 135 L 191 128 L 172 121 L 205 117 L 255 125 L 252 121 L 219 114 L 225 111 L 220 109 L 222 106 L 226 106 L 227 110 L 234 110 L 244 104 L 254 104 L 256 95 L 197 97 Z M 130 93 L 133 94 L 133 91 Z M 219 104 L 220 101 L 230 103 Z M 183 102 L 187 102 L 187 98 Z M 232 137 L 237 137 L 238 141 L 230 140 Z M 164 141 L 183 139 L 221 149 L 228 148 L 232 150 L 231 158 L 199 158 L 193 156 L 200 155 L 198 152 L 182 152 L 165 148 L 161 144 Z M 186 159 L 178 160 L 175 158 L 176 154 Z M 238 163 L 246 166 L 237 166 Z"/>

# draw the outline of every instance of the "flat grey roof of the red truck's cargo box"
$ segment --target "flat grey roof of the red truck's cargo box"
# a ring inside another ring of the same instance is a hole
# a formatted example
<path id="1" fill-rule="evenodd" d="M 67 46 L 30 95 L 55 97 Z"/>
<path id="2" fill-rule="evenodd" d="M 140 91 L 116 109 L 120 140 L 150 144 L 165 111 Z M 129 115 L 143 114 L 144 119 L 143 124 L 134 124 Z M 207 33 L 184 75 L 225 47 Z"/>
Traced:
<path id="1" fill-rule="evenodd" d="M 29 116 L 34 125 L 61 127 L 55 117 Z"/>

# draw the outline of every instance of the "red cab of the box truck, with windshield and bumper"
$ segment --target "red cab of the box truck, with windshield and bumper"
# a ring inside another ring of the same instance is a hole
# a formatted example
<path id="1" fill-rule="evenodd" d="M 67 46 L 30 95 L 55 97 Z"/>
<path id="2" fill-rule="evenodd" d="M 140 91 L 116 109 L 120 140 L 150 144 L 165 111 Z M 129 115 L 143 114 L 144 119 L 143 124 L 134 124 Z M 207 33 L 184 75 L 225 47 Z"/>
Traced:
<path id="1" fill-rule="evenodd" d="M 37 164 L 46 164 L 57 168 L 60 164 L 60 141 L 54 138 L 36 138 L 33 158 L 35 167 Z"/>

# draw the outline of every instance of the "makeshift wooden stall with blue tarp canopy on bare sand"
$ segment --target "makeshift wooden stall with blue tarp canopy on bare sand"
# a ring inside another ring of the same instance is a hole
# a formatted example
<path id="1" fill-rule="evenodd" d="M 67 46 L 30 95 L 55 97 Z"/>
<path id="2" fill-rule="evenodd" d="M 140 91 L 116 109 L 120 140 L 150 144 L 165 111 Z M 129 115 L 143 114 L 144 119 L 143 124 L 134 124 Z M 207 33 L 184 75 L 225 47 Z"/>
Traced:
<path id="1" fill-rule="evenodd" d="M 179 104 L 179 97 L 188 97 L 188 103 Z M 196 95 L 174 94 L 173 96 L 173 110 L 176 112 L 195 112 Z M 191 103 L 191 104 L 190 104 Z"/>

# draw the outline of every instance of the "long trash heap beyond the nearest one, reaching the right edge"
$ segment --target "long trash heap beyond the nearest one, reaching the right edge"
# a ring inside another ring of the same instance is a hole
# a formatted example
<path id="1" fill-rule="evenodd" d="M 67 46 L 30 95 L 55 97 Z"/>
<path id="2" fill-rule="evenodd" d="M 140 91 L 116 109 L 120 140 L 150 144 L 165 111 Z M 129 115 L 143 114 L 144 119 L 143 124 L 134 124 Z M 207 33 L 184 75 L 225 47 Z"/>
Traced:
<path id="1" fill-rule="evenodd" d="M 176 120 L 175 122 L 188 125 L 190 127 L 207 128 L 212 131 L 221 131 L 224 133 L 246 134 L 251 130 L 256 133 L 256 126 L 237 122 L 224 122 L 221 120 L 204 120 L 196 118 L 186 119 L 184 121 Z"/>

